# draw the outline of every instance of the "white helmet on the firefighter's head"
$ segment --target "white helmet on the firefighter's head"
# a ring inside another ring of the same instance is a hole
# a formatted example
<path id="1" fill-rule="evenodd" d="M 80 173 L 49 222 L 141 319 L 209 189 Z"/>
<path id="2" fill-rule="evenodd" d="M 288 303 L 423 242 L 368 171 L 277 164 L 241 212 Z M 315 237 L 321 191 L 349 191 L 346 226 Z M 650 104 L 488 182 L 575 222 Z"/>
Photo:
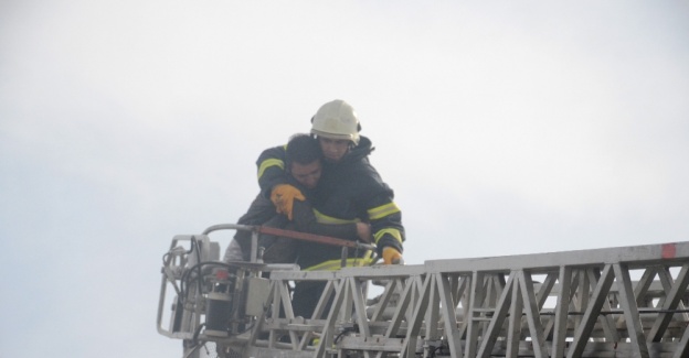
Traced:
<path id="1" fill-rule="evenodd" d="M 336 99 L 318 109 L 311 118 L 311 134 L 330 139 L 344 139 L 359 144 L 361 126 L 354 109 L 346 101 Z"/>

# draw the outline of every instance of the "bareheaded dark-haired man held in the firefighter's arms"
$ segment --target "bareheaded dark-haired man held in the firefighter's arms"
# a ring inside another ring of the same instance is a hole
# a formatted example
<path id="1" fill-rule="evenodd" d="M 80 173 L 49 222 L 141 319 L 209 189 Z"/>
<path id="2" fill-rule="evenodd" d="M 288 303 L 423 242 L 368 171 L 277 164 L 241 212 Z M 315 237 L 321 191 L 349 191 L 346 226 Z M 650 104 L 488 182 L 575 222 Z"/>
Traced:
<path id="1" fill-rule="evenodd" d="M 320 147 L 308 134 L 295 134 L 286 148 L 287 181 L 294 187 L 299 187 L 301 195 L 294 206 L 294 215 L 287 218 L 276 213 L 273 203 L 258 194 L 244 214 L 239 224 L 263 225 L 283 229 L 294 229 L 301 232 L 324 235 L 348 240 L 371 240 L 371 230 L 365 223 L 344 223 L 341 225 L 319 224 L 314 215 L 311 205 L 306 199 L 311 195 L 322 172 L 322 153 Z M 297 245 L 292 239 L 262 235 L 259 246 L 266 250 L 266 263 L 294 263 L 297 259 Z M 224 261 L 250 261 L 251 232 L 237 231 L 225 250 Z"/>

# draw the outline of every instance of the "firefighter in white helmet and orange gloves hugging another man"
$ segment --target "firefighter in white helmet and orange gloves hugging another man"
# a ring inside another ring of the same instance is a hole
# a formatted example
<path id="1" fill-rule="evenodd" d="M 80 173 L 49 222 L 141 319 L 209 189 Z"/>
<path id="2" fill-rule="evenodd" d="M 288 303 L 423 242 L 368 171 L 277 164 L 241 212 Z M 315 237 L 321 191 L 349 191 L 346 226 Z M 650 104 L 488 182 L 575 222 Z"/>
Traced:
<path id="1" fill-rule="evenodd" d="M 402 213 L 394 204 L 393 191 L 370 164 L 371 141 L 359 134 L 361 124 L 353 108 L 343 100 L 322 105 L 311 118 L 311 134 L 324 152 L 324 172 L 311 204 L 320 223 L 365 221 L 378 247 L 378 256 L 385 264 L 402 262 L 404 227 Z M 284 149 L 264 151 L 257 161 L 258 184 L 277 210 L 293 215 L 301 200 L 299 188 L 286 182 L 282 166 Z M 299 265 L 303 270 L 337 270 L 340 251 L 317 243 L 304 243 Z M 356 252 L 348 265 L 370 263 L 364 253 Z M 310 317 L 322 292 L 324 283 L 303 282 L 295 285 L 293 305 L 295 315 Z M 317 301 L 316 301 L 317 302 Z"/>

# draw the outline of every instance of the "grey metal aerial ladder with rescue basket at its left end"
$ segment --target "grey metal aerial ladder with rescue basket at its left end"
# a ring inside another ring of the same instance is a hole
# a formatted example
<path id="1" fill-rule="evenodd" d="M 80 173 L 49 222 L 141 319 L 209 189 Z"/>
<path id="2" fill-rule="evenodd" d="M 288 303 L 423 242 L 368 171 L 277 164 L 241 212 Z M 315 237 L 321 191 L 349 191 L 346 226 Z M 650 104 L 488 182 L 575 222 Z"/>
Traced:
<path id="1" fill-rule="evenodd" d="M 251 261 L 221 261 L 219 230 L 252 231 Z M 157 325 L 182 357 L 689 357 L 689 242 L 301 271 L 262 262 L 263 234 L 372 248 L 231 224 L 176 236 Z M 312 317 L 292 310 L 298 281 L 326 282 Z"/>

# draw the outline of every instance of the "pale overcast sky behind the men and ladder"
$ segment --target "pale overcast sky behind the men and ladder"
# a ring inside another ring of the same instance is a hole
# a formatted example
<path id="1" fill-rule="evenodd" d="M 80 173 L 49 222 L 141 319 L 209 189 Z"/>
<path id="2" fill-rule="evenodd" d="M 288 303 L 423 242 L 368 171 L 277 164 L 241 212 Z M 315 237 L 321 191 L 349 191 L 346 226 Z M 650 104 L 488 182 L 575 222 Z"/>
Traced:
<path id="1" fill-rule="evenodd" d="M 689 240 L 688 34 L 687 1 L 0 1 L 0 357 L 181 357 L 170 239 L 336 98 L 407 263 Z"/>

